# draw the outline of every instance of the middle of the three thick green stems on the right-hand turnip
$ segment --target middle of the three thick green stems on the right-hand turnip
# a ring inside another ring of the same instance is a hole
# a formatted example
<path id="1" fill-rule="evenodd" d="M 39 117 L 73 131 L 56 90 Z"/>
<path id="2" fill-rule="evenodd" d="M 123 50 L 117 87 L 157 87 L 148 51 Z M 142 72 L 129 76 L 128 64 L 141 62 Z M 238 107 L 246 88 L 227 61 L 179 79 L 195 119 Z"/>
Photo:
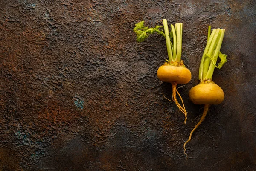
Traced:
<path id="1" fill-rule="evenodd" d="M 213 51 L 216 47 L 219 32 L 220 32 L 220 29 L 216 29 L 216 32 L 214 34 L 214 37 L 212 39 L 211 45 L 209 47 L 209 50 L 208 50 L 206 56 L 212 57 L 212 53 L 213 53 Z M 205 58 L 205 60 L 204 60 L 204 69 L 203 69 L 203 80 L 206 79 L 206 74 L 209 70 L 210 62 L 211 62 L 210 58 Z"/>

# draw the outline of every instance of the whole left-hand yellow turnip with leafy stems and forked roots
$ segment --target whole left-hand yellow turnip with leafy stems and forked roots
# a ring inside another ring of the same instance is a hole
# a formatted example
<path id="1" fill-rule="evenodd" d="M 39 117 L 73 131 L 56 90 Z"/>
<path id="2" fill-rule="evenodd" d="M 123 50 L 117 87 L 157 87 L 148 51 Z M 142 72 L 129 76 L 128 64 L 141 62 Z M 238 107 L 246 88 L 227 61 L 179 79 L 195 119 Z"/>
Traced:
<path id="1" fill-rule="evenodd" d="M 166 38 L 166 46 L 168 52 L 168 60 L 160 66 L 157 70 L 157 77 L 163 81 L 172 84 L 172 101 L 185 115 L 187 119 L 187 112 L 183 104 L 183 100 L 177 91 L 177 84 L 186 84 L 191 80 L 191 72 L 185 67 L 183 60 L 181 60 L 181 44 L 182 44 L 182 23 L 176 23 L 175 26 L 171 24 L 171 32 L 169 32 L 167 20 L 163 19 L 164 32 L 160 30 L 161 26 L 155 28 L 148 28 L 144 26 L 144 21 L 135 24 L 134 32 L 137 35 L 137 42 L 142 42 L 150 34 L 160 34 Z M 171 42 L 171 38 L 173 43 Z M 176 98 L 176 93 L 180 97 L 182 106 Z M 170 100 L 171 101 L 171 100 Z"/>

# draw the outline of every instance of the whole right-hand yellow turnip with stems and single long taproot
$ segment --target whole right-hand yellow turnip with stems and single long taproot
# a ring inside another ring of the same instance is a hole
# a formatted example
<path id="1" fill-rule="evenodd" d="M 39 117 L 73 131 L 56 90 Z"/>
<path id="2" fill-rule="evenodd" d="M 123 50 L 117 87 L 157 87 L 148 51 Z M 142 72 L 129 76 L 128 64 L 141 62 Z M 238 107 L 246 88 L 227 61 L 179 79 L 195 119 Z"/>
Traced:
<path id="1" fill-rule="evenodd" d="M 205 47 L 199 68 L 200 83 L 197 86 L 192 87 L 192 89 L 189 91 L 189 99 L 194 104 L 204 104 L 204 111 L 200 121 L 191 131 L 189 139 L 183 145 L 185 154 L 185 146 L 191 140 L 192 133 L 204 121 L 209 106 L 211 104 L 221 104 L 221 102 L 224 100 L 223 90 L 212 81 L 212 74 L 214 72 L 214 68 L 216 67 L 220 69 L 223 64 L 227 62 L 227 56 L 220 52 L 224 32 L 224 29 L 213 29 L 211 33 L 211 26 L 209 26 L 207 45 Z M 216 66 L 218 57 L 221 59 L 221 61 L 219 62 L 218 66 Z"/>

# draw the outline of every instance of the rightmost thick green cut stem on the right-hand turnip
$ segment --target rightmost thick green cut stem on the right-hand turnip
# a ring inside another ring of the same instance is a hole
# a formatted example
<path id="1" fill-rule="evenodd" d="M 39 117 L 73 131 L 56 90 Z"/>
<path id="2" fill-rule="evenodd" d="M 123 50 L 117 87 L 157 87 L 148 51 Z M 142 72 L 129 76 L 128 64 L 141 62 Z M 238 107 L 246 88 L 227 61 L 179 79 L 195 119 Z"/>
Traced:
<path id="1" fill-rule="evenodd" d="M 217 62 L 217 59 L 218 59 L 218 54 L 219 54 L 220 49 L 221 49 L 221 44 L 222 44 L 222 41 L 223 41 L 224 33 L 225 33 L 225 30 L 221 29 L 220 30 L 220 36 L 218 38 L 218 43 L 216 45 L 215 52 L 214 52 L 214 55 L 212 57 L 213 61 L 215 62 L 215 65 L 216 65 L 216 62 Z M 206 75 L 206 79 L 212 79 L 212 75 L 213 75 L 213 72 L 214 72 L 215 65 L 211 61 L 209 70 L 208 70 L 207 75 Z"/>

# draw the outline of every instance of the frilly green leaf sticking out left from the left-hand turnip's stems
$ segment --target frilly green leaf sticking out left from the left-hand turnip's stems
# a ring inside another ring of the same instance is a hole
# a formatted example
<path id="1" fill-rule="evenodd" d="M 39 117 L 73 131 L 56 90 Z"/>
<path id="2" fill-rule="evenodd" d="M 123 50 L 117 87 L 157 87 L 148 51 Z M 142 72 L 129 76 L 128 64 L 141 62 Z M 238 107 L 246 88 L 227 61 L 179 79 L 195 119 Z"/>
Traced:
<path id="1" fill-rule="evenodd" d="M 163 33 L 163 31 L 159 30 L 160 28 L 162 28 L 162 26 L 156 26 L 155 28 L 145 27 L 144 21 L 140 21 L 139 23 L 135 24 L 135 28 L 134 28 L 134 32 L 137 35 L 136 41 L 138 43 L 143 42 L 145 41 L 146 38 L 148 38 L 150 34 L 154 34 L 155 32 L 165 37 L 165 34 Z"/>

